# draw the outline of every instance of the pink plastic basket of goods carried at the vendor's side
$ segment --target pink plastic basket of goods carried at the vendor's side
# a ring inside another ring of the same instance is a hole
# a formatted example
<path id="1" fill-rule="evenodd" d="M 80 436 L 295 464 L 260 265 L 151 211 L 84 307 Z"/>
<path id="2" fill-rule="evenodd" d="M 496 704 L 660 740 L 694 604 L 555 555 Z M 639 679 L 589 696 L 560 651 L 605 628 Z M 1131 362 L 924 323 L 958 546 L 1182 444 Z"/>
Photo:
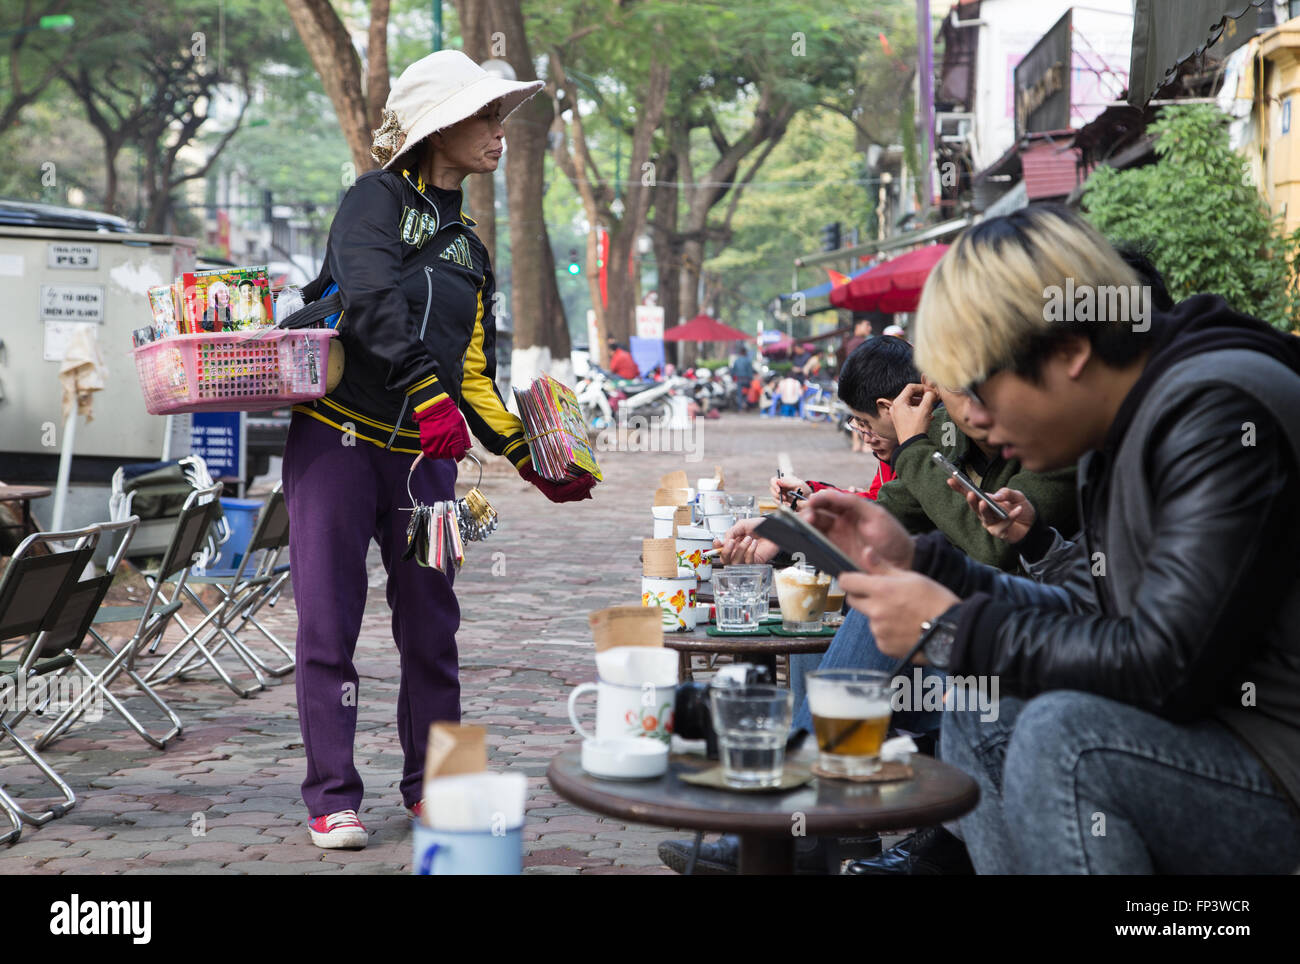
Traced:
<path id="1" fill-rule="evenodd" d="M 261 412 L 325 394 L 334 329 L 176 335 L 133 349 L 150 414 Z"/>

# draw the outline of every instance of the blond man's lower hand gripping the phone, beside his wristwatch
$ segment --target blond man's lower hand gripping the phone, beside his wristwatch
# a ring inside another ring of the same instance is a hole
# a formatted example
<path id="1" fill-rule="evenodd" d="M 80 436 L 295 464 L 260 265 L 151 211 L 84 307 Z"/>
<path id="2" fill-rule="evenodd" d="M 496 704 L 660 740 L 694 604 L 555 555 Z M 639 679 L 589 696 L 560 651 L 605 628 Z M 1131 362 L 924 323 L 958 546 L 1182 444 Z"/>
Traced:
<path id="1" fill-rule="evenodd" d="M 961 596 L 946 586 L 910 569 L 900 569 L 874 551 L 867 553 L 863 569 L 841 573 L 840 587 L 849 605 L 870 620 L 876 647 L 885 656 L 906 656 L 920 638 L 920 624 L 939 618 L 961 602 Z M 916 653 L 914 661 L 924 663 L 924 657 Z"/>

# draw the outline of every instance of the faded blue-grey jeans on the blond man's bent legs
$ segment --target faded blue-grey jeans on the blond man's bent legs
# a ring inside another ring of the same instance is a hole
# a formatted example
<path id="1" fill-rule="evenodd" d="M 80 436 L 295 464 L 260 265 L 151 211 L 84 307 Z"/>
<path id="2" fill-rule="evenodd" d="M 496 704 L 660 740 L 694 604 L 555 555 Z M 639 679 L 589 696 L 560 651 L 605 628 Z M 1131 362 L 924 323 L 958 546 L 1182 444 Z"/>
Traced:
<path id="1" fill-rule="evenodd" d="M 978 873 L 1291 873 L 1300 816 L 1222 724 L 1173 724 L 1088 692 L 942 713 L 941 755 L 970 773 L 961 818 Z"/>

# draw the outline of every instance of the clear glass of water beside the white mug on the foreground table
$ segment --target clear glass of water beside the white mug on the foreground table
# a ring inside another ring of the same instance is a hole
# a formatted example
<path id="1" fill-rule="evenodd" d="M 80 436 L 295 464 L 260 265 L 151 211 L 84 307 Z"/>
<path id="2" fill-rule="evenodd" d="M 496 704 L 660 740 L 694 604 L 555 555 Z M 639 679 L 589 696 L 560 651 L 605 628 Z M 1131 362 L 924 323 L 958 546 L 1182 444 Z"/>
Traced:
<path id="1" fill-rule="evenodd" d="M 711 686 L 723 780 L 734 787 L 780 786 L 794 700 L 780 686 Z"/>

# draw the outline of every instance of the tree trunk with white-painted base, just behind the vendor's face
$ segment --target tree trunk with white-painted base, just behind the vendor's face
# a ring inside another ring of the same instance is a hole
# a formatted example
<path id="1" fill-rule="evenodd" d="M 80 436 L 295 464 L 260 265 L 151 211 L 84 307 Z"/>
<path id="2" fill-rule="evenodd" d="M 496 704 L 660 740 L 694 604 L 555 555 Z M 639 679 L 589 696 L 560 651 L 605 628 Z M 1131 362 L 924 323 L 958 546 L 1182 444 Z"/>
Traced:
<path id="1" fill-rule="evenodd" d="M 536 81 L 520 0 L 490 0 L 490 32 L 500 32 L 502 58 L 519 81 Z M 545 91 L 525 100 L 506 122 L 506 201 L 510 209 L 511 314 L 515 351 L 511 381 L 526 385 L 542 372 L 571 375 L 568 322 L 555 279 L 546 214 L 546 136 L 555 107 Z"/>

